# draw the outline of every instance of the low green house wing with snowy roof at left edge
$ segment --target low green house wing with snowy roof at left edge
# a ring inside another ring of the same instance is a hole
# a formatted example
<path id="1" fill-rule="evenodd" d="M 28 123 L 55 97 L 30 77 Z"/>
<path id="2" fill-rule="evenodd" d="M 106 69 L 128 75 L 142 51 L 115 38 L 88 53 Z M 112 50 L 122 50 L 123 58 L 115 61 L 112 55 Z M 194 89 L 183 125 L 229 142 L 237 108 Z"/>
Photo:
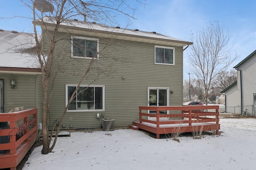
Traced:
<path id="1" fill-rule="evenodd" d="M 32 34 L 0 29 L 0 113 L 14 107 L 38 108 L 40 122 L 41 68 L 31 53 L 33 42 Z"/>

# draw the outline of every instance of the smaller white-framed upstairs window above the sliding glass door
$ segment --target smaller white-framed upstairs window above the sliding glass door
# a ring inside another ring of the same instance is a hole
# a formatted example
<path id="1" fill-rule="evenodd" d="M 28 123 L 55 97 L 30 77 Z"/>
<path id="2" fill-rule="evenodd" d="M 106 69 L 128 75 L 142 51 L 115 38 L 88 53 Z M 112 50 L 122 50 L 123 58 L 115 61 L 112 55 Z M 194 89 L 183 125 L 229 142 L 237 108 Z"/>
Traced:
<path id="1" fill-rule="evenodd" d="M 175 64 L 175 48 L 155 45 L 155 64 Z"/>

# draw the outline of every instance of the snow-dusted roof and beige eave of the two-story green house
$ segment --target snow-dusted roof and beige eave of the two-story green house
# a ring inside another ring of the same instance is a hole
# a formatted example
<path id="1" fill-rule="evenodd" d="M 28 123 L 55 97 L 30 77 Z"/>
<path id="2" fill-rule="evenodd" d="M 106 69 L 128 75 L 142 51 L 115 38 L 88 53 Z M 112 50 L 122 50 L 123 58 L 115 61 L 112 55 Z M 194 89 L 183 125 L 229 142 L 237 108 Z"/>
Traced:
<path id="1" fill-rule="evenodd" d="M 44 17 L 43 22 L 41 20 L 36 21 L 37 25 L 41 26 L 51 26 L 54 27 L 56 24 L 55 18 Z M 126 29 L 120 27 L 110 27 L 100 23 L 91 23 L 86 21 L 76 21 L 76 20 L 64 20 L 60 23 L 60 27 L 66 29 L 74 29 L 77 31 L 88 31 L 93 33 L 98 33 L 98 35 L 113 35 L 116 39 L 146 42 L 146 43 L 160 43 L 163 45 L 174 45 L 179 47 L 184 47 L 186 45 L 192 45 L 192 42 L 184 41 L 174 37 L 169 37 L 156 32 L 147 32 L 133 29 Z M 70 31 L 70 30 L 68 30 Z M 107 36 L 107 37 L 108 37 Z"/>

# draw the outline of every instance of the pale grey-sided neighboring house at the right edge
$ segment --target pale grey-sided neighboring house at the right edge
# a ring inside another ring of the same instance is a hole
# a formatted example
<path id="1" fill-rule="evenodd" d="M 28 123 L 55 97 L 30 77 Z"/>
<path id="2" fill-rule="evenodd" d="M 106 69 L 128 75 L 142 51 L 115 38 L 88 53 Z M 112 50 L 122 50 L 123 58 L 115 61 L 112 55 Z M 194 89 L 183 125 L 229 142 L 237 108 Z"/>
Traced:
<path id="1" fill-rule="evenodd" d="M 256 50 L 234 68 L 237 70 L 237 82 L 222 91 L 226 95 L 226 107 L 240 106 L 240 113 L 246 111 L 249 115 L 255 115 Z"/>

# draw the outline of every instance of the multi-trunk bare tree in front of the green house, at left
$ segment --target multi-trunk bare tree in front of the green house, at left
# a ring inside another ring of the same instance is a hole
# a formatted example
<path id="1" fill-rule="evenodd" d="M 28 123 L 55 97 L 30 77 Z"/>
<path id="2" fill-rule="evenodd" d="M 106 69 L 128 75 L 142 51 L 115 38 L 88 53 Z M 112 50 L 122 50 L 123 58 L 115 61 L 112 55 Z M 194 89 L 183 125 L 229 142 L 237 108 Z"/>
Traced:
<path id="1" fill-rule="evenodd" d="M 138 0 L 136 0 L 139 2 Z M 60 41 L 70 41 L 65 36 L 59 36 L 58 30 L 62 23 L 67 22 L 69 19 L 81 19 L 84 21 L 97 21 L 98 23 L 106 23 L 112 25 L 116 21 L 116 16 L 122 14 L 126 16 L 130 22 L 130 19 L 134 18 L 134 8 L 131 8 L 126 0 L 21 0 L 30 10 L 32 11 L 32 21 L 34 24 L 34 38 L 36 47 L 34 48 L 34 54 L 38 58 L 42 71 L 42 138 L 43 138 L 43 149 L 42 154 L 48 154 L 52 151 L 56 144 L 58 133 L 61 127 L 62 120 L 68 110 L 68 107 L 72 100 L 86 90 L 82 91 L 79 89 L 83 80 L 90 80 L 90 84 L 95 82 L 99 78 L 110 76 L 114 70 L 111 69 L 111 64 L 117 61 L 122 62 L 120 58 L 104 57 L 105 60 L 112 59 L 113 62 L 108 61 L 108 65 L 99 65 L 97 63 L 97 55 L 104 53 L 104 50 L 112 45 L 113 37 L 104 44 L 102 51 L 94 54 L 87 68 L 79 71 L 79 69 L 68 69 L 65 68 L 66 61 L 64 59 L 65 47 L 60 47 L 58 44 Z M 140 2 L 141 4 L 145 4 Z M 129 14 L 128 12 L 132 12 Z M 44 20 L 45 16 L 54 23 L 54 27 L 48 29 L 47 22 Z M 42 33 L 47 37 L 47 41 L 41 41 L 40 35 L 38 35 L 38 26 L 42 27 Z M 44 46 L 44 48 L 42 48 Z M 50 104 L 52 100 L 52 92 L 54 89 L 54 80 L 58 73 L 70 74 L 72 76 L 79 77 L 78 86 L 74 89 L 73 94 L 68 101 L 68 104 L 63 108 L 63 113 L 54 123 L 51 129 L 50 137 L 49 131 L 49 120 L 50 120 Z M 52 135 L 54 129 L 56 129 L 56 137 L 54 142 L 51 144 Z"/>

